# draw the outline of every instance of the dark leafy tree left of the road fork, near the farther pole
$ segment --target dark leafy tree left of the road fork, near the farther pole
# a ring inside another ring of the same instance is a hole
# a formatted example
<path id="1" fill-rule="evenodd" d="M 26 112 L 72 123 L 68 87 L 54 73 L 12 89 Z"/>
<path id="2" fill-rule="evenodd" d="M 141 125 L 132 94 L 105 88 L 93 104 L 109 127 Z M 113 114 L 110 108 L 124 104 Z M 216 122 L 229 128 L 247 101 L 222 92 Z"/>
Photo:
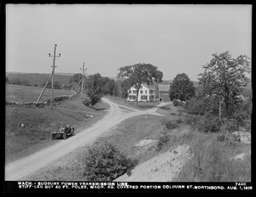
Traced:
<path id="1" fill-rule="evenodd" d="M 101 74 L 97 73 L 88 77 L 86 81 L 87 95 L 90 97 L 90 104 L 94 106 L 103 96 L 102 87 L 104 86 Z"/>

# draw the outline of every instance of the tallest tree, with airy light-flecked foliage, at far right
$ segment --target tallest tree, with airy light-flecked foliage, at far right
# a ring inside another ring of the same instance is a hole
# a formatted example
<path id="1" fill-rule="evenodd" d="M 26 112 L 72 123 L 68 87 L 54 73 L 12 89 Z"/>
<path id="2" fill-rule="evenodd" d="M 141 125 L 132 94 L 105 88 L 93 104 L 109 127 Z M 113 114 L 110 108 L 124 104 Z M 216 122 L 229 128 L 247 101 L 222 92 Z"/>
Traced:
<path id="1" fill-rule="evenodd" d="M 246 76 L 251 72 L 247 55 L 239 55 L 233 59 L 228 51 L 214 53 L 207 65 L 203 65 L 204 72 L 199 76 L 199 85 L 203 93 L 210 97 L 217 97 L 219 104 L 224 101 L 224 108 L 228 119 L 239 102 L 237 98 L 246 87 L 250 79 Z"/>

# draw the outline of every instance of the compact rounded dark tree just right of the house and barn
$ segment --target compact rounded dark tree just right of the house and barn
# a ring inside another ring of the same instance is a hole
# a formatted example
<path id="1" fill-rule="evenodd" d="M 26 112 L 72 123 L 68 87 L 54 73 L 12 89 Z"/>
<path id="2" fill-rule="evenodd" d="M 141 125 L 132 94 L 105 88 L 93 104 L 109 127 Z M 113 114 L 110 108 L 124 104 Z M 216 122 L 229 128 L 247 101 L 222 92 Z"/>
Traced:
<path id="1" fill-rule="evenodd" d="M 195 95 L 195 87 L 185 73 L 177 74 L 170 85 L 169 96 L 185 101 Z"/>

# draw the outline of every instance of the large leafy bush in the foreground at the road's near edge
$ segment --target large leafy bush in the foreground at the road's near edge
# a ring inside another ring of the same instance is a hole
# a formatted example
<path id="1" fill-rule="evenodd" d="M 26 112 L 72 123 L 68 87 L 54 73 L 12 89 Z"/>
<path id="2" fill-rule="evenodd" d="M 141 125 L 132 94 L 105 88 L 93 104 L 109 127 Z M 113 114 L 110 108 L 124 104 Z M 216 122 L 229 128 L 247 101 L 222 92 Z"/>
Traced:
<path id="1" fill-rule="evenodd" d="M 88 181 L 113 181 L 137 165 L 137 160 L 127 158 L 116 146 L 107 142 L 95 143 L 84 158 L 84 176 Z"/>

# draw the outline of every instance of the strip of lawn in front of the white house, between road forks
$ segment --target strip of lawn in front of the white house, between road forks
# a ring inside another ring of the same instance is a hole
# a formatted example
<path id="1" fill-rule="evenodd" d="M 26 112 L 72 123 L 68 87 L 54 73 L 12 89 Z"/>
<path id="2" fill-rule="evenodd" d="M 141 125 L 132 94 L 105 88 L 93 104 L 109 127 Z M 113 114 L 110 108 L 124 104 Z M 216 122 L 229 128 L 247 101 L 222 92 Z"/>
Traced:
<path id="1" fill-rule="evenodd" d="M 110 97 L 110 96 L 107 96 L 106 98 L 108 98 L 113 103 L 122 104 L 122 105 L 125 105 L 127 107 L 130 107 L 130 108 L 133 108 L 136 110 L 148 110 L 148 109 L 154 108 L 154 106 L 159 104 L 158 102 L 154 102 L 154 101 L 153 102 L 138 101 L 137 107 L 136 107 L 136 101 L 126 101 L 125 102 L 124 98 L 115 98 L 115 97 Z"/>

